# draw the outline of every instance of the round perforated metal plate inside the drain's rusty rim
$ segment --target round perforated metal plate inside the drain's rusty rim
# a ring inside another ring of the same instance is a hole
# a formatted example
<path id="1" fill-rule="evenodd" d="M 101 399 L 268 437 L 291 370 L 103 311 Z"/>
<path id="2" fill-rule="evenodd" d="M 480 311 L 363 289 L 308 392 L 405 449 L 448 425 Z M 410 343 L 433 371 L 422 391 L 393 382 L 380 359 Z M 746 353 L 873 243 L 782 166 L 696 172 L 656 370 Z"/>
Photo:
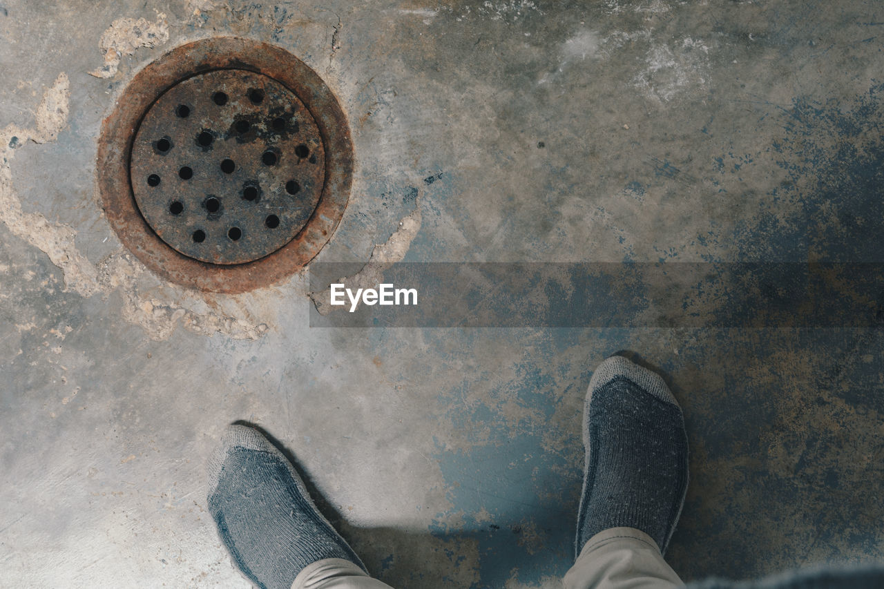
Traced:
<path id="1" fill-rule="evenodd" d="M 141 215 L 185 256 L 242 264 L 301 231 L 319 202 L 325 149 L 290 90 L 244 70 L 196 75 L 141 121 L 130 174 Z"/>

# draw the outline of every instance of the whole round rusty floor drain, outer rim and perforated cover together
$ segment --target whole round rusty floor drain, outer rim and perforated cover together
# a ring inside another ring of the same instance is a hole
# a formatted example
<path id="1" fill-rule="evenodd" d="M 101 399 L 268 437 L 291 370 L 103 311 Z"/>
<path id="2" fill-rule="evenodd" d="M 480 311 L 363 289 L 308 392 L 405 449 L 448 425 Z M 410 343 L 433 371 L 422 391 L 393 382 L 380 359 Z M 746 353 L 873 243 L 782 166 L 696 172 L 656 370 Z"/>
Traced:
<path id="1" fill-rule="evenodd" d="M 98 180 L 120 239 L 154 272 L 239 293 L 296 272 L 347 206 L 347 120 L 277 47 L 194 42 L 138 73 L 105 119 Z"/>

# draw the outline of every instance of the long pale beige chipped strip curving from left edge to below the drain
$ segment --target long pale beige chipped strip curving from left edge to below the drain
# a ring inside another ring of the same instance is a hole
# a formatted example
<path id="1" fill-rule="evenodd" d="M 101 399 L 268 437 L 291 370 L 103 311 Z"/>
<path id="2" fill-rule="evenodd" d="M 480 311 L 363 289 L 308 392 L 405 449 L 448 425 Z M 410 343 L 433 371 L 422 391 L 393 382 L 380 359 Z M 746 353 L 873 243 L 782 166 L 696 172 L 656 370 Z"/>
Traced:
<path id="1" fill-rule="evenodd" d="M 53 223 L 39 212 L 22 210 L 19 195 L 12 183 L 11 159 L 15 145 L 31 141 L 45 143 L 55 141 L 67 125 L 70 83 L 65 73 L 58 74 L 55 83 L 48 88 L 35 111 L 34 128 L 9 125 L 0 130 L 0 222 L 11 233 L 49 256 L 63 273 L 65 291 L 81 296 L 110 295 L 119 291 L 123 297 L 123 317 L 126 321 L 141 325 L 153 340 L 165 340 L 180 323 L 194 333 L 211 335 L 225 333 L 234 339 L 255 340 L 269 329 L 263 322 L 233 317 L 216 309 L 219 301 L 207 304 L 195 301 L 188 306 L 163 302 L 157 295 L 142 296 L 136 279 L 145 272 L 138 260 L 120 250 L 107 256 L 99 264 L 93 264 L 77 249 L 74 238 L 77 232 L 70 226 Z M 11 142 L 11 138 L 17 138 Z M 223 301 L 224 299 L 222 299 Z M 205 310 L 194 310 L 200 306 Z M 189 308 L 188 308 L 189 307 Z M 248 317 L 248 313 L 243 312 Z M 19 325 L 21 331 L 33 329 L 31 325 Z M 34 325 L 35 327 L 35 325 Z M 62 334 L 63 335 L 63 334 Z"/>

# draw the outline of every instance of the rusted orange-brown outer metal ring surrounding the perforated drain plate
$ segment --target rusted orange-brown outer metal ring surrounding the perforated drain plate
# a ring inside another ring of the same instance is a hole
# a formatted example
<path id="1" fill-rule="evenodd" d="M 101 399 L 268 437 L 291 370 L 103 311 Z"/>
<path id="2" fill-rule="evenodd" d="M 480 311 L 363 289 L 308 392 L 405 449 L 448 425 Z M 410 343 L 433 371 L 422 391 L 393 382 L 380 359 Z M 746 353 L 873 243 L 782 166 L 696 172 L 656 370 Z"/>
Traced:
<path id="1" fill-rule="evenodd" d="M 215 70 L 246 70 L 278 81 L 308 109 L 325 148 L 324 186 L 307 223 L 282 248 L 244 264 L 209 264 L 172 249 L 141 216 L 130 181 L 134 135 L 151 105 L 182 80 Z M 110 226 L 143 264 L 185 287 L 236 294 L 286 278 L 324 247 L 347 208 L 354 157 L 347 118 L 308 65 L 267 43 L 222 37 L 182 45 L 134 76 L 104 119 L 96 164 Z"/>

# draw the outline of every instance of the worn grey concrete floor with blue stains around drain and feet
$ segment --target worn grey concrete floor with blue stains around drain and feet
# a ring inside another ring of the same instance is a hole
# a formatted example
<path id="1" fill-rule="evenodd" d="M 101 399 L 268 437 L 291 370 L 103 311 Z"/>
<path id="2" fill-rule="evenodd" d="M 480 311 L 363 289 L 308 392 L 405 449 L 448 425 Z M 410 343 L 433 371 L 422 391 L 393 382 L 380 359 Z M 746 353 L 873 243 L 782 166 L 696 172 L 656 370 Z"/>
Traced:
<path id="1" fill-rule="evenodd" d="M 305 274 L 175 287 L 95 193 L 133 73 L 233 34 L 301 57 L 347 112 L 354 188 L 320 260 L 393 236 L 406 261 L 880 262 L 884 6 L 321 4 L 0 5 L 0 585 L 247 586 L 203 466 L 245 419 L 378 578 L 559 586 L 583 394 L 620 349 L 687 419 L 682 578 L 884 558 L 876 326 L 311 329 Z"/>

